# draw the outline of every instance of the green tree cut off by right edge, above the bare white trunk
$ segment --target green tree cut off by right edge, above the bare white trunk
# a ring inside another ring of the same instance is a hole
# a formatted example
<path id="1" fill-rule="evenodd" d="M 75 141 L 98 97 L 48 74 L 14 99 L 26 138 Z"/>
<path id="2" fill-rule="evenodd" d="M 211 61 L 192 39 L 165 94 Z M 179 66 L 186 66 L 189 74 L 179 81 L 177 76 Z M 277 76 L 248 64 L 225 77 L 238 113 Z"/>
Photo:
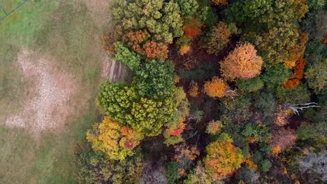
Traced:
<path id="1" fill-rule="evenodd" d="M 315 93 L 321 93 L 327 86 L 327 59 L 309 66 L 305 72 L 305 78 Z"/>

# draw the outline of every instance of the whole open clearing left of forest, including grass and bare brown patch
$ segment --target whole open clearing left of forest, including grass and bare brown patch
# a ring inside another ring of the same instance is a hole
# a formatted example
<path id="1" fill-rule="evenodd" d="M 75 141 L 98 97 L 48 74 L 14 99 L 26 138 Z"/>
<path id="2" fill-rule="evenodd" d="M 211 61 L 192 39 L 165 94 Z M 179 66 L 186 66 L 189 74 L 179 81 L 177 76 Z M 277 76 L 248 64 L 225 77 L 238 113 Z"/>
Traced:
<path id="1" fill-rule="evenodd" d="M 99 120 L 97 87 L 128 77 L 102 47 L 109 6 L 34 0 L 0 22 L 0 183 L 75 183 L 73 149 Z"/>

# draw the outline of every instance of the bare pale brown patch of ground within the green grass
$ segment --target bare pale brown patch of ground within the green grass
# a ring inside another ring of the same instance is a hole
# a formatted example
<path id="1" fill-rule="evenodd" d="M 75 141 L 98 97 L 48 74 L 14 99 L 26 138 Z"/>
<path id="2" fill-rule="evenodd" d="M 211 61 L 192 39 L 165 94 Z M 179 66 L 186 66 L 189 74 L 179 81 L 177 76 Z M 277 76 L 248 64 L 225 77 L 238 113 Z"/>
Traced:
<path id="1" fill-rule="evenodd" d="M 10 127 L 26 128 L 34 135 L 43 130 L 61 128 L 73 114 L 71 98 L 78 86 L 73 77 L 59 70 L 50 56 L 42 56 L 27 49 L 17 55 L 17 67 L 33 83 L 24 97 L 22 112 L 6 119 Z"/>

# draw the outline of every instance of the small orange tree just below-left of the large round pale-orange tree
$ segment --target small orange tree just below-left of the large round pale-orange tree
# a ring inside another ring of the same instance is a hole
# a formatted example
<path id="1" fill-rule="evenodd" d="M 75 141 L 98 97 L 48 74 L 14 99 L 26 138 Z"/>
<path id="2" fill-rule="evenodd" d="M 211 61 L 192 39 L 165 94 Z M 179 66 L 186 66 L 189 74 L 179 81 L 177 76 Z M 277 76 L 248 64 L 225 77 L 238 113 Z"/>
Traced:
<path id="1" fill-rule="evenodd" d="M 211 81 L 205 82 L 204 84 L 205 93 L 212 98 L 221 98 L 228 95 L 229 89 L 228 84 L 226 84 L 223 79 L 219 79 L 218 77 L 214 77 Z"/>

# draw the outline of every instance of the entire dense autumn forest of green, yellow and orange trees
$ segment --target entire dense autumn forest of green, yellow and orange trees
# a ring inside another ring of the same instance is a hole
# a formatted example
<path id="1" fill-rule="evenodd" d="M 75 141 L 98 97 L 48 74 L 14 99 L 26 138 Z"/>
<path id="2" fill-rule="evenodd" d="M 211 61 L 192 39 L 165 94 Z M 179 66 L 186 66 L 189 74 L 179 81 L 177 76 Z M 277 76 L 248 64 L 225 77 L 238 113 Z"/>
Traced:
<path id="1" fill-rule="evenodd" d="M 116 0 L 79 183 L 326 183 L 324 0 Z M 93 123 L 93 122 L 92 122 Z"/>

